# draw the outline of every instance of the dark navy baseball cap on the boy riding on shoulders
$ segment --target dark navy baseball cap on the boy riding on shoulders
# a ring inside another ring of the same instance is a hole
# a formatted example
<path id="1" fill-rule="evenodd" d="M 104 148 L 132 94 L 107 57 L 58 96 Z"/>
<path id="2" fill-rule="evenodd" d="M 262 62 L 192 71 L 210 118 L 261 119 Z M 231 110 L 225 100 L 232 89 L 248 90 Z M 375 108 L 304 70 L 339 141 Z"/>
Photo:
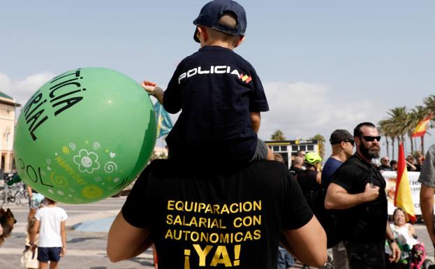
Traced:
<path id="1" fill-rule="evenodd" d="M 237 26 L 231 28 L 222 24 L 219 24 L 219 19 L 225 13 L 233 13 L 237 19 Z M 211 27 L 218 31 L 223 31 L 226 34 L 233 36 L 244 36 L 246 31 L 246 13 L 243 6 L 240 6 L 236 1 L 231 0 L 214 0 L 206 3 L 201 8 L 200 15 L 193 21 L 195 25 L 202 25 Z M 200 43 L 200 40 L 196 36 L 198 29 L 195 29 L 193 39 Z"/>

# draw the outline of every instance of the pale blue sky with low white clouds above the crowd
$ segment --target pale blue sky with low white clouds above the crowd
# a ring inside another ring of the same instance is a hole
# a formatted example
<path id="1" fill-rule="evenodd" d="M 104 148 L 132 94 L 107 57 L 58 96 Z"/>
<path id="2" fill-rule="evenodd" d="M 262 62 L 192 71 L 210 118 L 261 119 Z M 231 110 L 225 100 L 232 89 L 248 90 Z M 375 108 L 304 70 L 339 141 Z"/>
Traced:
<path id="1" fill-rule="evenodd" d="M 2 1 L 0 91 L 24 103 L 52 76 L 87 66 L 165 86 L 198 50 L 192 21 L 205 3 Z M 264 140 L 276 129 L 329 138 L 435 94 L 434 1 L 239 3 L 248 27 L 236 52 L 255 66 L 270 104 Z"/>

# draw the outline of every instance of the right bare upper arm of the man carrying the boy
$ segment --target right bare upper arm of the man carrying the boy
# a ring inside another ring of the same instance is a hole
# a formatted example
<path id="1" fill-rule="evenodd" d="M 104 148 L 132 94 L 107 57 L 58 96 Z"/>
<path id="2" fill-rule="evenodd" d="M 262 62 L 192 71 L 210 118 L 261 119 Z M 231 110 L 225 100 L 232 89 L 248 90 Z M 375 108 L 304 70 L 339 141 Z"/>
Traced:
<path id="1" fill-rule="evenodd" d="M 323 267 L 327 261 L 326 233 L 313 215 L 301 228 L 282 231 L 283 246 L 298 260 L 314 267 Z"/>

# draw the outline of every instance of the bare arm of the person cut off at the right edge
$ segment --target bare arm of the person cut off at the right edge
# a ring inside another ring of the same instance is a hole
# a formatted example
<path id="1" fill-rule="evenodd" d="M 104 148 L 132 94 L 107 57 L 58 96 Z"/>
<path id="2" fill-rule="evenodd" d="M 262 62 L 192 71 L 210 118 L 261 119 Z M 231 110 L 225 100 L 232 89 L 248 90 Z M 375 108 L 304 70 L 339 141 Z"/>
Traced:
<path id="1" fill-rule="evenodd" d="M 425 225 L 432 243 L 435 244 L 435 231 L 434 231 L 434 189 L 427 187 L 425 184 L 421 185 L 420 189 L 420 208 L 422 210 L 422 217 L 425 219 Z"/>

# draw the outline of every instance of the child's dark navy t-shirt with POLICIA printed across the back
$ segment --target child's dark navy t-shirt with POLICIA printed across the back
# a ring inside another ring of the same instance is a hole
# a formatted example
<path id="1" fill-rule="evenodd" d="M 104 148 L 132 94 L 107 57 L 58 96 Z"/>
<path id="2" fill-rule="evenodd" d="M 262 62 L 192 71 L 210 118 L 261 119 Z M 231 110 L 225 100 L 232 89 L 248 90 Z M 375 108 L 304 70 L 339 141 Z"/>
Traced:
<path id="1" fill-rule="evenodd" d="M 269 110 L 260 78 L 248 61 L 228 48 L 205 46 L 177 66 L 163 106 L 179 112 L 166 138 L 170 157 L 250 161 L 257 135 L 250 112 Z"/>

